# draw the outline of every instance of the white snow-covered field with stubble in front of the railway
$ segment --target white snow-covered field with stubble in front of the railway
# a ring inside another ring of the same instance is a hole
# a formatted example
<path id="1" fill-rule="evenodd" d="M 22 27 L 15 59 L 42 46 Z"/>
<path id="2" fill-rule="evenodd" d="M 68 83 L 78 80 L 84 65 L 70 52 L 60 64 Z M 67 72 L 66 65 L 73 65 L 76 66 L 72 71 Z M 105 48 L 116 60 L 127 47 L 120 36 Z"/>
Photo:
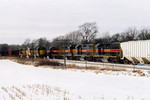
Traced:
<path id="1" fill-rule="evenodd" d="M 0 100 L 150 100 L 150 77 L 0 60 Z"/>

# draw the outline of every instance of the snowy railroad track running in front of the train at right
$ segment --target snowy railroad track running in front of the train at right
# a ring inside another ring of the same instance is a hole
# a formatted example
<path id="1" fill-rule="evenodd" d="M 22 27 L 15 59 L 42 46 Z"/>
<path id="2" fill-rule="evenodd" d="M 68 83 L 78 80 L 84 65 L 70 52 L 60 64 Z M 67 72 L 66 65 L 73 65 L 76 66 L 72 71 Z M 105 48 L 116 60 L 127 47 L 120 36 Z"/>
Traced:
<path id="1" fill-rule="evenodd" d="M 63 59 L 51 59 L 64 63 Z M 90 62 L 90 61 L 76 61 L 66 60 L 66 64 L 75 64 L 80 67 L 99 67 L 100 69 L 126 69 L 126 70 L 147 70 L 150 71 L 150 66 L 145 65 L 127 65 L 127 64 L 116 64 L 116 63 L 103 63 L 103 62 Z"/>

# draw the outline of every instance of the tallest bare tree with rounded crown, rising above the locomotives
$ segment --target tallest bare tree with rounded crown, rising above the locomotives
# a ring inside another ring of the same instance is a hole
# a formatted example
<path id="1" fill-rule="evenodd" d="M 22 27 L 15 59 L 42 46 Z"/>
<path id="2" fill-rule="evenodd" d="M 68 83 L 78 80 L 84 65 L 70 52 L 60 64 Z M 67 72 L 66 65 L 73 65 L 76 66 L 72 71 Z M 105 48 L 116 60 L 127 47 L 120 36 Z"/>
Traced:
<path id="1" fill-rule="evenodd" d="M 81 32 L 82 41 L 84 43 L 89 43 L 94 41 L 96 34 L 98 33 L 98 27 L 95 22 L 84 23 L 79 26 L 79 31 Z"/>

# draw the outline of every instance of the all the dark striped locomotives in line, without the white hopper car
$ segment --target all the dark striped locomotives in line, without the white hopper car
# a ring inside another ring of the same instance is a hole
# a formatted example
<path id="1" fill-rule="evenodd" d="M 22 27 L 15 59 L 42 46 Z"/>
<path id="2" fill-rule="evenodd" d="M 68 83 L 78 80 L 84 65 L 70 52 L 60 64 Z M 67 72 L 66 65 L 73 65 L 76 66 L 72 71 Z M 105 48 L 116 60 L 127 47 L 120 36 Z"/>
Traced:
<path id="1" fill-rule="evenodd" d="M 50 47 L 46 50 L 45 47 L 36 49 L 23 48 L 19 51 L 20 57 L 48 57 L 51 59 L 69 59 L 69 60 L 89 60 L 103 62 L 118 62 L 120 59 L 120 44 L 83 44 Z"/>

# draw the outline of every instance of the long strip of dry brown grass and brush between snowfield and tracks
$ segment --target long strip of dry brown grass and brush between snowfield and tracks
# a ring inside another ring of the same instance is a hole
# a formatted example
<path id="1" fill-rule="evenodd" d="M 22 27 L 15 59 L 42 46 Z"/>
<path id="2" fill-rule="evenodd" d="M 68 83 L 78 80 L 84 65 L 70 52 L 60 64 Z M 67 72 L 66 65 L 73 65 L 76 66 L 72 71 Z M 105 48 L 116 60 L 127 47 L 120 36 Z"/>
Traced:
<path id="1" fill-rule="evenodd" d="M 96 66 L 77 66 L 76 64 L 68 64 L 63 67 L 63 64 L 57 60 L 49 60 L 42 58 L 20 58 L 20 57 L 7 57 L 6 59 L 13 60 L 17 63 L 24 65 L 34 65 L 35 67 L 53 68 L 53 69 L 79 69 L 79 70 L 93 70 L 98 74 L 100 71 L 126 71 L 125 69 L 114 69 L 111 66 L 105 66 L 104 68 Z"/>

